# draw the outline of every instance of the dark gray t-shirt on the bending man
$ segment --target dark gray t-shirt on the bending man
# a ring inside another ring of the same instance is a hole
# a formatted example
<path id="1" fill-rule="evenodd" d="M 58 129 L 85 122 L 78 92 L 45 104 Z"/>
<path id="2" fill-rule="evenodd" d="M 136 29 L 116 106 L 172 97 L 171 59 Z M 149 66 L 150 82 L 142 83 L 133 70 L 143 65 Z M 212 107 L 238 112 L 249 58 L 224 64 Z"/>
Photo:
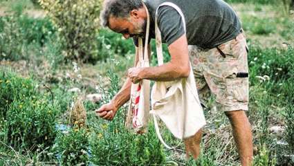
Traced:
<path id="1" fill-rule="evenodd" d="M 150 37 L 155 38 L 156 8 L 166 0 L 145 0 L 150 14 Z M 187 42 L 201 48 L 214 48 L 234 39 L 241 31 L 236 13 L 223 0 L 168 0 L 178 6 L 185 17 Z M 181 15 L 170 6 L 158 8 L 158 28 L 163 42 L 172 44 L 184 32 Z M 138 40 L 134 38 L 138 46 Z"/>

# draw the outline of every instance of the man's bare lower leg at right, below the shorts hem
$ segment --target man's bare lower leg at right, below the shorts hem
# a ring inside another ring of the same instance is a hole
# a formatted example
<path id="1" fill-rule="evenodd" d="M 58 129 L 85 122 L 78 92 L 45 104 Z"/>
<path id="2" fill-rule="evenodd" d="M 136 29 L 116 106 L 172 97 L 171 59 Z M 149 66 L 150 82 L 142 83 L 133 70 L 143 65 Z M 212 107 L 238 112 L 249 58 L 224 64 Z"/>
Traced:
<path id="1" fill-rule="evenodd" d="M 232 125 L 232 133 L 237 145 L 241 165 L 252 165 L 252 132 L 245 111 L 226 111 Z"/>

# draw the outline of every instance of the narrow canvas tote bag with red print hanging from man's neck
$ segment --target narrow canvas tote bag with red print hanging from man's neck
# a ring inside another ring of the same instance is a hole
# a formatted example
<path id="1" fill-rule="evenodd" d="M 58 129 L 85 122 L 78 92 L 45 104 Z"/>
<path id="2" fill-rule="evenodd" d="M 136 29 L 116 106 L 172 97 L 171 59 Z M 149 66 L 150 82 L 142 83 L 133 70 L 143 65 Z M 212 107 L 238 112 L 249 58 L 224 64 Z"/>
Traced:
<path id="1" fill-rule="evenodd" d="M 145 9 L 147 10 L 146 6 Z M 147 10 L 148 11 L 148 10 Z M 148 57 L 148 37 L 149 37 L 149 13 L 147 12 L 147 25 L 145 36 L 145 48 L 143 52 L 143 39 L 138 37 L 138 64 L 136 67 L 149 67 Z M 136 60 L 135 60 L 136 63 Z M 129 111 L 127 113 L 126 127 L 133 129 L 137 133 L 144 133 L 147 128 L 150 111 L 150 81 L 142 80 L 137 84 L 131 84 L 131 98 Z M 131 120 L 132 119 L 132 120 Z M 132 121 L 132 122 L 131 122 Z"/>

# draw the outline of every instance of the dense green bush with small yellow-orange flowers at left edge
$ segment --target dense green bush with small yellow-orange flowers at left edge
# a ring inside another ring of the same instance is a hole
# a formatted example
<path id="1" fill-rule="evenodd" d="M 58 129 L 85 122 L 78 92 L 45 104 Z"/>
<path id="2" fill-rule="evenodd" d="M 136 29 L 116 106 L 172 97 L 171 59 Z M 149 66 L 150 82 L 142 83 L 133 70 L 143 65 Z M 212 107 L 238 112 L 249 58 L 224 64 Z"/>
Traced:
<path id="1" fill-rule="evenodd" d="M 15 149 L 48 147 L 55 138 L 57 110 L 30 79 L 0 73 L 1 137 Z"/>

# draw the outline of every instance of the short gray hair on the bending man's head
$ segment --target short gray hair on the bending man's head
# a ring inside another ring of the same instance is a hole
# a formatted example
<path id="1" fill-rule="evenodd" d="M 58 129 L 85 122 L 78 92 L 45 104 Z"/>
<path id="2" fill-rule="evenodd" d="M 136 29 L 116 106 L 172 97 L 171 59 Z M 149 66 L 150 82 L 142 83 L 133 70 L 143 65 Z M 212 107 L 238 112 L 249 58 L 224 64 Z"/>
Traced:
<path id="1" fill-rule="evenodd" d="M 143 6 L 142 0 L 105 0 L 100 13 L 102 26 L 109 26 L 109 17 L 125 18 L 129 12 Z"/>

